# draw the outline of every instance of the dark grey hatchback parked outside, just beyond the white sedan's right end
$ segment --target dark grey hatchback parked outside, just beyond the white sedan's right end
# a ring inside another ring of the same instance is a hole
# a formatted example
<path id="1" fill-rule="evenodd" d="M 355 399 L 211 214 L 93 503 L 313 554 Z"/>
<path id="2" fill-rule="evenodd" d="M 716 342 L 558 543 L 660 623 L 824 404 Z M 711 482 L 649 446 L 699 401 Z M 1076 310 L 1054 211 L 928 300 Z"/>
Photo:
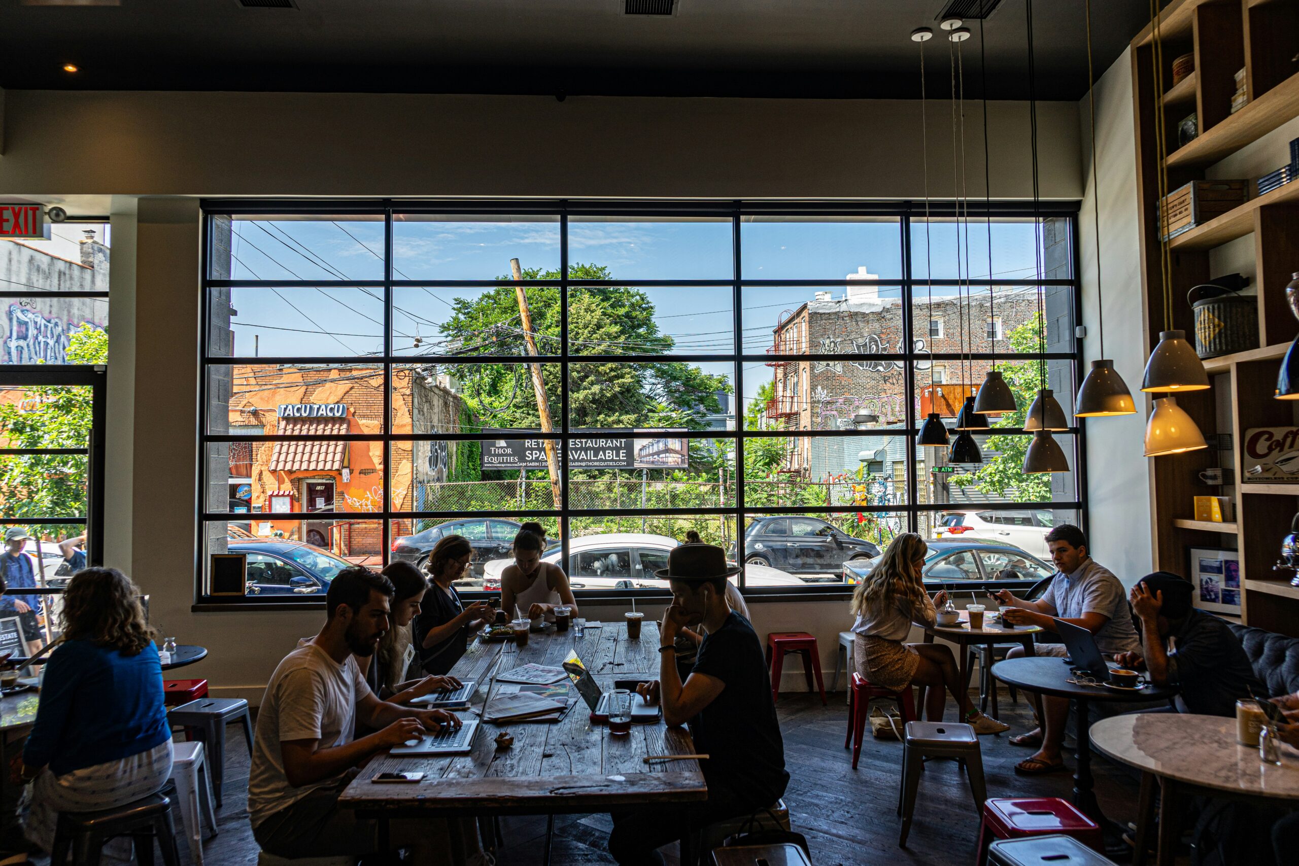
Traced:
<path id="1" fill-rule="evenodd" d="M 870 560 L 879 548 L 816 517 L 755 517 L 744 532 L 744 562 L 838 580 L 844 562 Z"/>

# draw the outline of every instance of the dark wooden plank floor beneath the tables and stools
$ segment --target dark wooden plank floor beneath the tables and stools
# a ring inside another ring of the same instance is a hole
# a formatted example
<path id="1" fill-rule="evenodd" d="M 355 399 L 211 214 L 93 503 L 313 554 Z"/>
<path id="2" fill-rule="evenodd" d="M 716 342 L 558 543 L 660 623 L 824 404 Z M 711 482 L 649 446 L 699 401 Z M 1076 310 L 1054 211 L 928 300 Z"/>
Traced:
<path id="1" fill-rule="evenodd" d="M 1004 696 L 1004 693 L 1003 693 Z M 895 815 L 902 747 L 869 737 L 863 745 L 857 770 L 843 748 L 847 708 L 843 693 L 831 695 L 830 705 L 818 697 L 782 695 L 777 705 L 785 735 L 785 760 L 792 780 L 785 795 L 794 828 L 808 837 L 817 866 L 865 866 L 870 863 L 925 863 L 948 866 L 973 863 L 978 818 L 969 787 L 956 763 L 927 765 L 921 780 L 916 818 L 907 849 L 898 848 L 899 819 Z M 1017 734 L 1028 728 L 1030 714 L 1022 701 L 1002 713 Z M 257 862 L 257 845 L 248 826 L 248 753 L 243 737 L 231 728 L 226 740 L 226 800 L 218 813 L 220 835 L 204 845 L 208 866 L 247 866 Z M 1017 776 L 1013 766 L 1029 750 L 1012 747 L 1007 735 L 979 737 L 990 797 L 1068 797 L 1072 775 Z M 1068 758 L 1073 766 L 1072 754 Z M 1096 793 L 1107 814 L 1128 821 L 1135 814 L 1137 783 L 1104 758 L 1092 761 Z M 551 862 L 556 866 L 612 863 L 605 843 L 608 815 L 562 815 L 556 818 Z M 546 840 L 546 818 L 507 818 L 505 847 L 499 866 L 538 866 Z M 188 850 L 182 845 L 188 862 Z M 668 857 L 675 863 L 675 857 Z"/>

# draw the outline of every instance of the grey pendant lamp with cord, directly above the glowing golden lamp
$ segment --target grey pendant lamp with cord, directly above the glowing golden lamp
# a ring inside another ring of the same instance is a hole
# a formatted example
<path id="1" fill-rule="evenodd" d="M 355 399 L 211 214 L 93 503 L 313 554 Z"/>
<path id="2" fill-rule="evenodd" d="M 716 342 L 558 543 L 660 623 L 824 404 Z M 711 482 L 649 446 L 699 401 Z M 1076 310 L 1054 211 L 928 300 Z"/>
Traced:
<path id="1" fill-rule="evenodd" d="M 1164 139 L 1167 127 L 1164 126 L 1164 39 L 1160 32 L 1163 13 L 1159 5 L 1151 0 L 1151 77 L 1160 96 L 1155 100 L 1155 162 L 1159 169 L 1155 171 L 1159 196 L 1159 275 L 1164 293 L 1164 330 L 1159 334 L 1159 345 L 1151 352 L 1146 362 L 1146 375 L 1142 379 L 1142 391 L 1152 393 L 1173 393 L 1176 391 L 1204 391 L 1209 387 L 1209 377 L 1204 370 L 1204 362 L 1195 354 L 1195 349 L 1186 341 L 1186 332 L 1173 328 L 1173 278 L 1172 278 L 1172 252 L 1164 236 L 1164 227 L 1168 223 L 1165 196 L 1168 195 L 1168 147 Z M 1154 415 L 1151 415 L 1154 418 Z M 1147 452 L 1150 449 L 1147 448 Z"/>

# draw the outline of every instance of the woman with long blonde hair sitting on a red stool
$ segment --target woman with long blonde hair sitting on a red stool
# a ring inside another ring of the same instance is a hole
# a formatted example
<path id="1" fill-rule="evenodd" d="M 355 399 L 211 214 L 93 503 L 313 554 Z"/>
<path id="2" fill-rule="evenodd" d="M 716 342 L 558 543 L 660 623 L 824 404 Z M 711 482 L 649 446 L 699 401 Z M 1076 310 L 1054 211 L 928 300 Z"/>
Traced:
<path id="1" fill-rule="evenodd" d="M 857 621 L 855 657 L 857 671 L 876 686 L 902 691 L 912 686 L 929 686 L 925 718 L 943 719 L 946 688 L 956 699 L 960 718 L 976 734 L 999 734 L 1009 728 L 970 706 L 969 693 L 960 683 L 960 671 L 952 650 L 940 644 L 905 644 L 912 625 L 933 626 L 938 619 L 935 604 L 947 600 L 939 592 L 929 600 L 921 573 L 929 545 L 914 532 L 896 536 L 852 592 L 852 613 Z"/>

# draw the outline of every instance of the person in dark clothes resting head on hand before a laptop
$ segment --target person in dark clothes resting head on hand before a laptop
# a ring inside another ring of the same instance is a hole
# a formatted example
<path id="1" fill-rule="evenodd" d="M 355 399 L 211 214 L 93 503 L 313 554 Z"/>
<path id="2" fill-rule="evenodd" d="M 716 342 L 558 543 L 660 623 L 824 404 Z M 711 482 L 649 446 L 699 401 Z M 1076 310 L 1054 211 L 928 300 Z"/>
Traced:
<path id="1" fill-rule="evenodd" d="M 1142 652 L 1115 661 L 1144 667 L 1156 686 L 1177 686 L 1177 709 L 1235 715 L 1242 697 L 1267 695 L 1239 639 L 1222 619 L 1191 606 L 1191 583 L 1168 571 L 1142 578 L 1131 591 L 1142 623 Z"/>

